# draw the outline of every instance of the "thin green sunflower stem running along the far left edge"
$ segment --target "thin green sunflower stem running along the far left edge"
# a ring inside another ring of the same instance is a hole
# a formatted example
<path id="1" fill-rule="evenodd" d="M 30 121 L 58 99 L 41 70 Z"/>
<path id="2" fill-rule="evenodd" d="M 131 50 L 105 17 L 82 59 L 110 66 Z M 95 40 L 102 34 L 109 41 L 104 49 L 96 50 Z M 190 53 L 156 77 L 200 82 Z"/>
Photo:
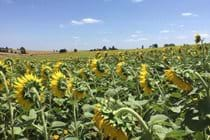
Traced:
<path id="1" fill-rule="evenodd" d="M 11 127 L 11 134 L 12 134 L 12 140 L 15 140 L 15 135 L 14 135 L 14 113 L 13 113 L 13 107 L 12 107 L 12 103 L 11 103 L 11 99 L 10 99 L 10 92 L 9 92 L 9 88 L 7 86 L 7 81 L 6 81 L 6 78 L 5 78 L 5 75 L 2 71 L 0 71 L 0 76 L 2 77 L 3 79 L 3 84 L 4 84 L 4 87 L 6 89 L 6 93 L 7 93 L 7 101 L 8 101 L 8 105 L 9 105 L 9 112 L 10 112 L 10 127 Z"/>

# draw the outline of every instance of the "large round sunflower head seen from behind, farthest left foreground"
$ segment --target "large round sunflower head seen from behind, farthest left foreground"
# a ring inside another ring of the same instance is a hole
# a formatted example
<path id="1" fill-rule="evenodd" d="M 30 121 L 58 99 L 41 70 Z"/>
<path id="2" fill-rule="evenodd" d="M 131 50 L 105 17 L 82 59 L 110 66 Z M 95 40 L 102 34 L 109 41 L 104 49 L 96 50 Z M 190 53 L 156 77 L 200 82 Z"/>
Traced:
<path id="1" fill-rule="evenodd" d="M 38 92 L 38 97 L 32 89 L 35 88 Z M 44 101 L 44 95 L 42 93 L 43 86 L 41 84 L 41 79 L 38 79 L 32 74 L 25 74 L 22 77 L 17 78 L 14 83 L 14 91 L 16 94 L 17 102 L 24 108 L 29 109 L 37 101 Z"/>

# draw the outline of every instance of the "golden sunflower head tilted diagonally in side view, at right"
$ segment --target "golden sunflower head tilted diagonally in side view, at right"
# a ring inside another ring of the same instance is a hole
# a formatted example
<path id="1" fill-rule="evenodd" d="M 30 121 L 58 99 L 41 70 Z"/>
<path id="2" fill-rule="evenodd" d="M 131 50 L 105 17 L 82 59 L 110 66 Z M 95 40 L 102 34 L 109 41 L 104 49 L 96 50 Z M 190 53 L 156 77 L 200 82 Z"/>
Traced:
<path id="1" fill-rule="evenodd" d="M 176 75 L 176 72 L 174 72 L 172 69 L 165 70 L 165 77 L 168 81 L 175 84 L 177 87 L 184 91 L 191 91 L 192 86 L 190 83 L 182 80 L 180 77 Z"/>

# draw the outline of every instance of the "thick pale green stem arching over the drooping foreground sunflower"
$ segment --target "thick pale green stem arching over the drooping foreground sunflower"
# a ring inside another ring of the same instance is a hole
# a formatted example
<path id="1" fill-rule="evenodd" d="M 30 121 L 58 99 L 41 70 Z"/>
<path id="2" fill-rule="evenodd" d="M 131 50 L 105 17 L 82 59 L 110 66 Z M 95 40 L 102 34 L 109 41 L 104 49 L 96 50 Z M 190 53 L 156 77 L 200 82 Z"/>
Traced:
<path id="1" fill-rule="evenodd" d="M 146 122 L 143 120 L 143 118 L 137 112 L 135 112 L 133 109 L 128 108 L 128 107 L 122 107 L 122 108 L 113 112 L 113 114 L 115 116 L 120 116 L 123 113 L 132 114 L 139 121 L 140 125 L 144 129 L 144 131 L 145 131 L 146 135 L 149 137 L 149 139 L 151 139 L 152 134 L 150 133 L 149 127 L 147 126 Z"/>

